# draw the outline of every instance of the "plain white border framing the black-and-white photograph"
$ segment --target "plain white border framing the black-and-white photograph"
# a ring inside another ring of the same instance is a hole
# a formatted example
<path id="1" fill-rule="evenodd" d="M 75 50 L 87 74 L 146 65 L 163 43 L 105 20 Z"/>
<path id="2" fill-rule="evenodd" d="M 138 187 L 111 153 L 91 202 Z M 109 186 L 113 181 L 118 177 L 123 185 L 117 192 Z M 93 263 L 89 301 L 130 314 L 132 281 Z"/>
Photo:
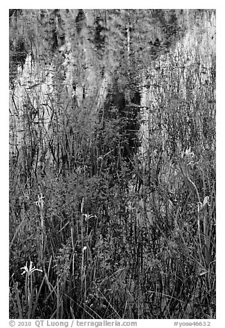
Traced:
<path id="1" fill-rule="evenodd" d="M 34 6 L 35 4 L 35 6 Z M 215 8 L 217 9 L 217 319 L 211 327 L 224 327 L 224 280 L 225 280 L 225 213 L 224 213 L 224 9 L 222 1 L 8 1 L 1 10 L 1 304 L 2 327 L 8 327 L 8 10 L 10 8 Z M 5 8 L 7 6 L 7 8 Z M 6 318 L 6 322 L 5 322 Z M 170 322 L 168 322 L 170 321 Z M 175 320 L 137 320 L 138 327 L 173 327 Z M 190 320 L 177 320 L 190 321 Z M 6 325 L 4 325 L 6 323 Z M 150 325 L 150 326 L 149 326 Z M 151 326 L 152 325 L 152 326 Z"/>

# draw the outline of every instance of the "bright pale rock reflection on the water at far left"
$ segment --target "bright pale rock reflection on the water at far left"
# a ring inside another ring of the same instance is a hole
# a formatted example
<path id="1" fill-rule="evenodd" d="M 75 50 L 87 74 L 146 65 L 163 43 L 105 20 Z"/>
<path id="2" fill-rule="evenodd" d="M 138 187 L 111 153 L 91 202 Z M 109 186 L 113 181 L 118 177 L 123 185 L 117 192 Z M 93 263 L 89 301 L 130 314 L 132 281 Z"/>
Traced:
<path id="1" fill-rule="evenodd" d="M 21 66 L 17 70 L 17 82 L 13 90 L 10 90 L 10 125 L 12 126 L 12 130 L 10 130 L 10 154 L 19 152 L 23 147 L 24 136 L 26 136 L 32 144 L 28 155 L 30 163 L 34 163 L 36 155 L 39 157 L 39 161 L 46 147 L 48 147 L 43 141 L 40 143 L 37 130 L 32 128 L 28 134 L 29 127 L 24 125 L 24 116 L 27 116 L 34 126 L 42 124 L 44 130 L 49 130 L 48 126 L 52 115 L 50 96 L 54 94 L 52 66 L 46 68 L 46 72 L 48 74 L 41 72 L 32 55 L 28 54 L 23 70 Z M 45 76 L 44 79 L 42 79 L 43 76 Z"/>

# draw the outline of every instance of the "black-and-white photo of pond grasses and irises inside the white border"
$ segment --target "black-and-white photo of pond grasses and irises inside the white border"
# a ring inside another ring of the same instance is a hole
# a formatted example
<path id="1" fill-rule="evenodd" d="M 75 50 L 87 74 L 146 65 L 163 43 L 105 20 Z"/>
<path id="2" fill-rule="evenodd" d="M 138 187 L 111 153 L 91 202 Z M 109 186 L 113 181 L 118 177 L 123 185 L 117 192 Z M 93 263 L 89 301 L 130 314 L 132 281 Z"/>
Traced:
<path id="1" fill-rule="evenodd" d="M 215 10 L 10 10 L 10 318 L 215 318 Z"/>

